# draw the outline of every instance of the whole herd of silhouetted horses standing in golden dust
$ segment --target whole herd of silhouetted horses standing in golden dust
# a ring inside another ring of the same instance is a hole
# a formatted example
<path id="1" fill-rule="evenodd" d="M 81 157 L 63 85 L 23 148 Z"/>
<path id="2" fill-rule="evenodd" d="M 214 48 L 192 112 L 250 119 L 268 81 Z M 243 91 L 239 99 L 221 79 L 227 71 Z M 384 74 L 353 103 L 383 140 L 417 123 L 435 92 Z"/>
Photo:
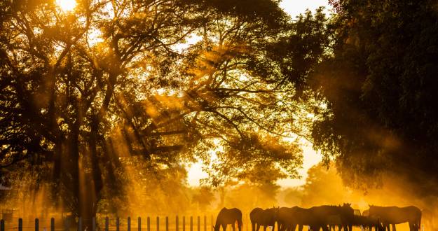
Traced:
<path id="1" fill-rule="evenodd" d="M 378 207 L 369 206 L 362 214 L 360 211 L 355 213 L 351 204 L 340 206 L 322 205 L 308 209 L 300 207 L 273 207 L 271 209 L 255 208 L 249 214 L 252 224 L 252 231 L 259 231 L 268 226 L 275 229 L 278 224 L 278 231 L 294 231 L 298 226 L 299 231 L 306 225 L 312 231 L 331 231 L 338 227 L 340 231 L 353 230 L 353 226 L 360 227 L 362 230 L 388 231 L 390 225 L 396 231 L 395 225 L 409 223 L 409 230 L 419 231 L 421 222 L 421 211 L 417 207 Z M 226 231 L 227 225 L 232 225 L 235 231 L 235 223 L 238 223 L 238 230 L 242 231 L 242 211 L 240 209 L 226 209 L 219 211 L 214 225 L 214 231 L 219 231 L 220 227 Z"/>

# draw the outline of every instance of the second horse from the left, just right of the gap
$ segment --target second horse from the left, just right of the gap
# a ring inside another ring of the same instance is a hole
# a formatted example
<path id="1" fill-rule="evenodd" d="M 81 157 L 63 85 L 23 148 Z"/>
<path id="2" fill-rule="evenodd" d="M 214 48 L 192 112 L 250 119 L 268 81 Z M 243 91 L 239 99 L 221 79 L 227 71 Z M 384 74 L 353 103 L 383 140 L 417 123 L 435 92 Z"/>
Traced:
<path id="1" fill-rule="evenodd" d="M 272 230 L 274 230 L 275 221 L 277 221 L 278 210 L 279 208 L 275 207 L 271 209 L 252 209 L 251 213 L 249 213 L 252 231 L 259 231 L 261 225 L 264 227 L 264 231 L 266 231 L 268 226 L 272 226 Z"/>

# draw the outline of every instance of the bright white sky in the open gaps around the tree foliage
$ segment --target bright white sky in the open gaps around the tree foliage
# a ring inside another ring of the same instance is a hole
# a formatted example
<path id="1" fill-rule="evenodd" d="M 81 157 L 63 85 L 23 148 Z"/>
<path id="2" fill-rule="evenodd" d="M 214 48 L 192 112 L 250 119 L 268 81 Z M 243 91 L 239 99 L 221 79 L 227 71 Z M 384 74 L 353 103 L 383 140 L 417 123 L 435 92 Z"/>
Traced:
<path id="1" fill-rule="evenodd" d="M 304 13 L 306 9 L 314 11 L 320 6 L 326 7 L 326 13 L 329 13 L 327 0 L 283 0 L 280 6 L 285 9 L 292 18 L 296 15 Z M 299 170 L 301 179 L 283 179 L 278 181 L 282 187 L 301 186 L 306 183 L 307 171 L 313 165 L 321 161 L 321 155 L 313 151 L 311 144 L 306 144 L 303 147 L 303 168 Z M 196 163 L 189 168 L 188 181 L 191 186 L 199 186 L 199 180 L 207 177 L 207 174 L 201 169 L 202 164 Z"/>

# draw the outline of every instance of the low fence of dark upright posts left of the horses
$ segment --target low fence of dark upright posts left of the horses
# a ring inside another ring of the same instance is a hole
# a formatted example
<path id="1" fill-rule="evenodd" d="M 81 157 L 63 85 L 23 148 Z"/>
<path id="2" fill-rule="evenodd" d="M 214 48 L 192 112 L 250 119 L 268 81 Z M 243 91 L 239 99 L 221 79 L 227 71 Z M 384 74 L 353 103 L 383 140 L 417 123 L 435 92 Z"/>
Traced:
<path id="1" fill-rule="evenodd" d="M 78 218 L 78 221 L 74 221 L 74 224 L 71 224 L 71 221 L 69 221 L 69 219 L 61 218 L 56 223 L 57 227 L 55 227 L 55 218 L 50 218 L 50 223 L 48 223 L 47 220 L 40 221 L 39 218 L 35 218 L 33 222 L 31 220 L 27 221 L 26 223 L 23 223 L 22 218 L 18 218 L 18 223 L 14 223 L 11 220 L 5 221 L 1 219 L 0 231 L 49 231 L 48 228 L 50 228 L 50 231 L 213 231 L 214 225 L 213 216 L 211 216 L 210 218 L 210 223 L 207 223 L 207 216 L 174 216 L 172 218 L 170 218 L 169 216 L 165 216 L 164 219 L 160 219 L 160 217 L 157 216 L 155 223 L 151 222 L 152 219 L 153 217 L 146 217 L 146 225 L 142 226 L 141 217 L 137 217 L 137 219 L 133 219 L 132 221 L 130 217 L 126 219 L 121 219 L 119 217 L 116 217 L 115 219 L 110 219 L 107 216 L 104 218 L 104 221 L 101 220 L 101 226 L 97 223 L 96 218 L 93 218 L 92 227 L 88 228 L 88 230 L 84 227 L 82 218 Z M 137 222 L 135 222 L 135 220 L 137 220 Z M 182 224 L 180 224 L 181 220 Z M 160 225 L 163 226 L 160 227 Z M 189 226 L 188 230 L 186 230 L 186 226 Z M 207 227 L 210 227 L 210 229 L 207 229 Z"/>

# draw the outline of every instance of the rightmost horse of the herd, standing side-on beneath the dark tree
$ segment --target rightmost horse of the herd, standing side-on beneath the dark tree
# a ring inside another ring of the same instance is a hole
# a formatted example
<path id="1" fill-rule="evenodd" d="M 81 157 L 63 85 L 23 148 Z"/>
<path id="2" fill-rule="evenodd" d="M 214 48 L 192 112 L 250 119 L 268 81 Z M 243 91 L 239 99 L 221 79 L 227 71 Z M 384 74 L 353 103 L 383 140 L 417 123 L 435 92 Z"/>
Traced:
<path id="1" fill-rule="evenodd" d="M 409 230 L 418 231 L 421 227 L 421 210 L 414 206 L 409 207 L 378 207 L 369 206 L 369 216 L 381 219 L 383 227 L 395 231 L 395 225 L 400 223 L 409 223 Z"/>

